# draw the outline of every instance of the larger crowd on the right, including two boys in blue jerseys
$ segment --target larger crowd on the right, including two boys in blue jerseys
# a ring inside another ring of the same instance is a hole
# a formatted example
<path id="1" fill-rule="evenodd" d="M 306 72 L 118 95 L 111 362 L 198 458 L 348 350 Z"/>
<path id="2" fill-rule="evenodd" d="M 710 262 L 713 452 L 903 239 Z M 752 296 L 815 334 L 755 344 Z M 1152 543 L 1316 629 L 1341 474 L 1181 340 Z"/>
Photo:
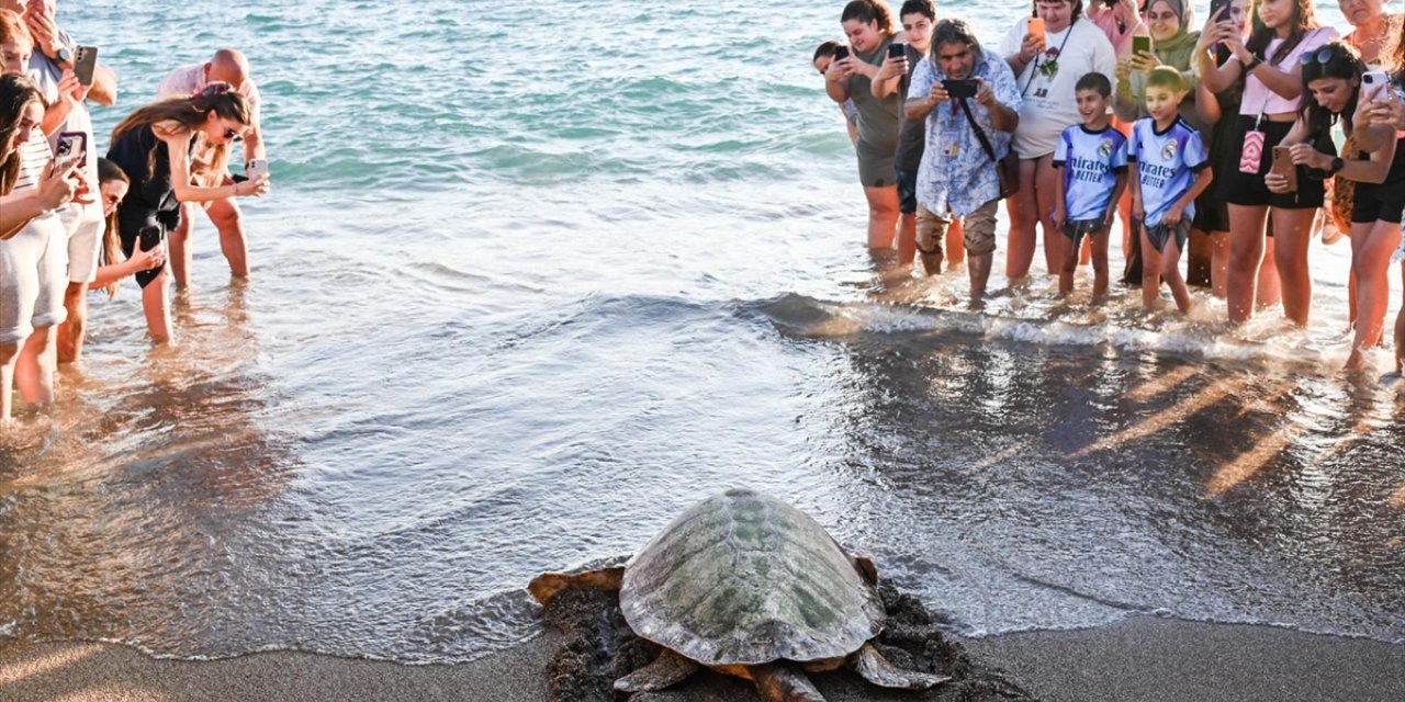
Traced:
<path id="1" fill-rule="evenodd" d="M 1034 0 L 995 49 L 932 0 L 847 3 L 847 44 L 813 65 L 851 124 L 868 246 L 896 241 L 929 275 L 964 249 L 978 300 L 1005 201 L 1006 277 L 1030 275 L 1043 230 L 1059 293 L 1090 261 L 1099 300 L 1121 220 L 1123 282 L 1148 309 L 1165 284 L 1189 312 L 1191 279 L 1232 323 L 1281 305 L 1307 326 L 1312 240 L 1347 236 L 1361 368 L 1384 345 L 1392 258 L 1405 274 L 1405 22 L 1385 0 L 1338 1 L 1340 31 L 1314 0 L 1208 0 L 1198 25 L 1189 0 Z"/>

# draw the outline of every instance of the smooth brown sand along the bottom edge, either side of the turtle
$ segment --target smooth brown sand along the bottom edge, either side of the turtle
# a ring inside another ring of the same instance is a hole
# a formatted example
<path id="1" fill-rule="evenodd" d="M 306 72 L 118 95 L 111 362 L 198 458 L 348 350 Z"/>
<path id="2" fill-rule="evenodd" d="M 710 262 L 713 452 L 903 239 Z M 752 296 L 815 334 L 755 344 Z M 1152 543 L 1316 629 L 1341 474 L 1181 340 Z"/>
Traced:
<path id="1" fill-rule="evenodd" d="M 246 702 L 548 699 L 559 635 L 459 665 L 399 665 L 309 653 L 219 661 L 153 660 L 125 646 L 56 643 L 0 650 L 7 702 Z M 1405 646 L 1264 626 L 1137 618 L 1078 632 L 964 642 L 1044 701 L 1387 702 L 1405 699 Z M 830 702 L 936 699 L 880 692 L 847 673 L 815 677 Z M 750 688 L 700 675 L 652 702 L 749 702 Z"/>

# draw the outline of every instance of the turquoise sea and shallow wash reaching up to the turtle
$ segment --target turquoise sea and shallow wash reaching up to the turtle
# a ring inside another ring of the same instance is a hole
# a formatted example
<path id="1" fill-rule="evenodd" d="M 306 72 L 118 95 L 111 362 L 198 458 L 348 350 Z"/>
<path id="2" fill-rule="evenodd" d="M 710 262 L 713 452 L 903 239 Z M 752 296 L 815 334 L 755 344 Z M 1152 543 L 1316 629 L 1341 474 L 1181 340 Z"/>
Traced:
<path id="1" fill-rule="evenodd" d="M 840 7 L 62 3 L 121 77 L 100 145 L 242 48 L 274 188 L 249 284 L 198 220 L 180 343 L 131 281 L 94 295 L 58 407 L 0 439 L 0 650 L 472 660 L 540 630 L 531 577 L 731 486 L 968 636 L 1405 640 L 1405 403 L 1387 352 L 1336 373 L 1346 244 L 1312 246 L 1307 330 L 875 271 L 809 67 Z M 1021 13 L 943 6 L 991 48 Z"/>

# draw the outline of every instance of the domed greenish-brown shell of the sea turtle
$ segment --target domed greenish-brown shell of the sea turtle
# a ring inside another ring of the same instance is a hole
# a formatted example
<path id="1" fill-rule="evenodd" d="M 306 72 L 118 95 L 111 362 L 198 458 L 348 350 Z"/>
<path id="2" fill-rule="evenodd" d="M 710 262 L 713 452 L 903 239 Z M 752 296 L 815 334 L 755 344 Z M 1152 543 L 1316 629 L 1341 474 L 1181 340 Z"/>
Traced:
<path id="1" fill-rule="evenodd" d="M 752 490 L 673 519 L 629 560 L 620 607 L 635 633 L 705 665 L 839 658 L 884 619 L 877 588 L 815 519 Z"/>

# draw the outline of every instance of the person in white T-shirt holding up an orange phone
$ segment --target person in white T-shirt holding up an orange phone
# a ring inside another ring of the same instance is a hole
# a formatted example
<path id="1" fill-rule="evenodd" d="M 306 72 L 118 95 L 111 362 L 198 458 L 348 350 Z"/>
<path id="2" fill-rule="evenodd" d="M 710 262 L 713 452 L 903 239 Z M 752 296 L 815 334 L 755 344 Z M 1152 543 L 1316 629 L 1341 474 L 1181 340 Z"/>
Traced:
<path id="1" fill-rule="evenodd" d="M 1064 267 L 1066 237 L 1051 220 L 1058 197 L 1054 147 L 1064 129 L 1082 124 L 1073 86 L 1087 73 L 1114 80 L 1117 56 L 1102 29 L 1082 17 L 1083 0 L 1037 0 L 1034 18 L 1020 20 L 1000 45 L 1024 98 L 1014 152 L 1020 156 L 1020 191 L 1007 201 L 1010 247 L 1005 275 L 1012 282 L 1030 274 L 1037 247 L 1035 225 L 1044 225 L 1048 271 Z"/>

